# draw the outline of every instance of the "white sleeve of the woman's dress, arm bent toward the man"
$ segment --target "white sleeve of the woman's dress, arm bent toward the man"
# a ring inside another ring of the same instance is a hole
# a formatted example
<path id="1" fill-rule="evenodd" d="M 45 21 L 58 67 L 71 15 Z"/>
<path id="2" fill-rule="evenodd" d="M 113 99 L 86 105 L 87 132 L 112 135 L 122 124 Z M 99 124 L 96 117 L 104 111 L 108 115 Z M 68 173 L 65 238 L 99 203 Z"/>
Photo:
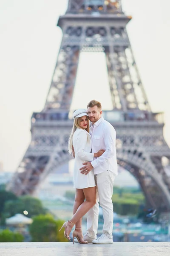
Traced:
<path id="1" fill-rule="evenodd" d="M 87 144 L 87 134 L 82 131 L 78 136 L 76 140 L 76 151 L 75 156 L 79 157 L 81 160 L 85 161 L 93 161 L 94 153 L 89 153 L 85 151 L 85 146 Z M 75 148 L 74 148 L 75 150 Z"/>

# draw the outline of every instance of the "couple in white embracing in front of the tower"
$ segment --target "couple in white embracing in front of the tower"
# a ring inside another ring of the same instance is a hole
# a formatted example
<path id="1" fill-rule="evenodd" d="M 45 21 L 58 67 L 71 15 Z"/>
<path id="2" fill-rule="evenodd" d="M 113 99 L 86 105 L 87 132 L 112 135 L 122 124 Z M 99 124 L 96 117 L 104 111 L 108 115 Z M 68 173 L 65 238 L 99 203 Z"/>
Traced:
<path id="1" fill-rule="evenodd" d="M 75 157 L 74 188 L 76 195 L 74 215 L 70 221 L 62 225 L 65 228 L 64 236 L 71 240 L 69 234 L 75 225 L 73 243 L 112 244 L 113 204 L 111 197 L 113 182 L 117 175 L 116 131 L 102 117 L 102 105 L 96 100 L 88 103 L 87 110 L 75 111 L 73 118 L 74 125 L 69 137 L 68 150 Z M 91 127 L 89 127 L 89 120 Z M 103 211 L 104 225 L 102 236 L 96 239 L 99 204 Z M 82 217 L 86 213 L 87 232 L 83 236 Z"/>

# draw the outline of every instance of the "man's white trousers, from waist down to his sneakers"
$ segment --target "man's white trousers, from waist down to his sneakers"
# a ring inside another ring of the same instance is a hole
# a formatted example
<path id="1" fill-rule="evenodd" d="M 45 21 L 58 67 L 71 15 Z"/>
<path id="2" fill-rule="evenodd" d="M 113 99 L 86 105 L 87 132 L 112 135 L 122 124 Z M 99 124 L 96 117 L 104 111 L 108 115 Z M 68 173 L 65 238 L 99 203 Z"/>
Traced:
<path id="1" fill-rule="evenodd" d="M 91 238 L 96 239 L 98 219 L 99 219 L 99 203 L 103 210 L 103 233 L 112 238 L 113 230 L 113 182 L 115 174 L 109 170 L 96 174 L 96 204 L 87 213 L 87 232 Z"/>

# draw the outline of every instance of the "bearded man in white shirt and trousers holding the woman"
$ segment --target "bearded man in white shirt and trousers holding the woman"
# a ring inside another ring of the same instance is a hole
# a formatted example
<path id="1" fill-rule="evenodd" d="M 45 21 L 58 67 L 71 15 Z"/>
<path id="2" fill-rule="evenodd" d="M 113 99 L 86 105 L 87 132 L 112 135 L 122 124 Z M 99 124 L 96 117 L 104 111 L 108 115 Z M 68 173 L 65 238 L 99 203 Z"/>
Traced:
<path id="1" fill-rule="evenodd" d="M 88 116 L 91 121 L 92 152 L 104 149 L 102 156 L 84 163 L 80 169 L 82 174 L 87 175 L 94 169 L 96 181 L 96 204 L 87 214 L 87 233 L 83 236 L 85 241 L 93 244 L 113 243 L 113 181 L 117 175 L 116 161 L 116 131 L 113 126 L 102 117 L 102 105 L 96 100 L 88 103 Z M 99 203 L 103 210 L 104 225 L 102 236 L 96 239 Z M 75 242 L 77 239 L 74 240 Z"/>

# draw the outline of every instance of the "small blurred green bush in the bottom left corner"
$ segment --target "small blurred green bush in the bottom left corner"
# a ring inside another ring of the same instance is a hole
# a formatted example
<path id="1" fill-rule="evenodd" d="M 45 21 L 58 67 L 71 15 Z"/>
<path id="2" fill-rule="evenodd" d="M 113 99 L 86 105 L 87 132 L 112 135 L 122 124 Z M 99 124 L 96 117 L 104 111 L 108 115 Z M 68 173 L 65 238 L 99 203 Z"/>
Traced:
<path id="1" fill-rule="evenodd" d="M 12 232 L 8 229 L 0 232 L 0 242 L 23 242 L 24 237 L 20 233 Z"/>

